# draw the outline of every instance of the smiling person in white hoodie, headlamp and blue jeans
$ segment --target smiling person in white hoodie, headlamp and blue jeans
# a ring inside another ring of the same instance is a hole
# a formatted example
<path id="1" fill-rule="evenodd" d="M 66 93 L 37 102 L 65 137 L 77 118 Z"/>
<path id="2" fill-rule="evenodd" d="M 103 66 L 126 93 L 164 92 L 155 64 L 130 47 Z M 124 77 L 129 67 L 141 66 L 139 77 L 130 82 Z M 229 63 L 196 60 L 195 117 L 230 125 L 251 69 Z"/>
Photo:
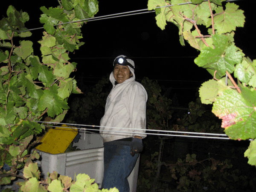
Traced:
<path id="1" fill-rule="evenodd" d="M 146 128 L 148 95 L 145 88 L 135 81 L 134 61 L 119 55 L 113 66 L 109 78 L 113 88 L 100 120 L 100 134 L 104 141 L 102 189 L 116 187 L 119 192 L 129 192 L 127 177 L 143 150 L 142 139 L 146 137 L 145 130 L 141 129 Z"/>

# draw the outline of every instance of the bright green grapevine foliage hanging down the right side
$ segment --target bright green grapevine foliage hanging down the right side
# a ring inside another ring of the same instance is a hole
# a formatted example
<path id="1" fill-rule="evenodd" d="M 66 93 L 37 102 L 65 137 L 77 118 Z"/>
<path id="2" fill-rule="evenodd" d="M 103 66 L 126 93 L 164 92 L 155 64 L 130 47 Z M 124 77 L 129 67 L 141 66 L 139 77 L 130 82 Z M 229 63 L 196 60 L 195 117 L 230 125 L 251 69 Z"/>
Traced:
<path id="1" fill-rule="evenodd" d="M 201 102 L 213 105 L 212 113 L 222 119 L 221 127 L 230 139 L 253 139 L 244 156 L 256 166 L 256 61 L 245 57 L 234 42 L 236 27 L 244 26 L 244 12 L 225 0 L 180 3 L 187 0 L 148 0 L 148 10 L 156 10 L 160 29 L 167 21 L 174 23 L 180 44 L 187 41 L 200 51 L 195 64 L 213 76 L 200 87 Z"/>

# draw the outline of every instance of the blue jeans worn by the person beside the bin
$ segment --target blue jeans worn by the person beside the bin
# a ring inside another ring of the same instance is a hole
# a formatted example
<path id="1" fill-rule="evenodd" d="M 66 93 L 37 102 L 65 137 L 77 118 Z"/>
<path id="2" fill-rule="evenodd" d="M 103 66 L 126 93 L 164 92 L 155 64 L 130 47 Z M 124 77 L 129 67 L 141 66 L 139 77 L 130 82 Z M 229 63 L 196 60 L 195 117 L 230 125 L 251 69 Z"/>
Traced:
<path id="1" fill-rule="evenodd" d="M 129 192 L 127 177 L 134 169 L 139 154 L 130 154 L 128 145 L 104 145 L 104 176 L 102 189 L 116 187 L 119 192 Z"/>

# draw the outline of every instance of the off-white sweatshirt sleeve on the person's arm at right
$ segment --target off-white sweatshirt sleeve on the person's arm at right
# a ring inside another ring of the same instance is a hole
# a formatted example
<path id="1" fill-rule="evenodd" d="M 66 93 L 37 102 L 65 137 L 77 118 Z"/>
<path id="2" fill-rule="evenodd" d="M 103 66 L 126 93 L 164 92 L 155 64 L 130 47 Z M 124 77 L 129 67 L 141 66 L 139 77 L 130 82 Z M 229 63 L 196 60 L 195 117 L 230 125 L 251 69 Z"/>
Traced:
<path id="1" fill-rule="evenodd" d="M 145 138 L 147 136 L 145 130 L 141 130 L 146 129 L 146 103 L 148 95 L 145 88 L 139 83 L 133 84 L 128 91 L 126 99 L 125 105 L 131 119 L 133 136 L 137 135 Z"/>

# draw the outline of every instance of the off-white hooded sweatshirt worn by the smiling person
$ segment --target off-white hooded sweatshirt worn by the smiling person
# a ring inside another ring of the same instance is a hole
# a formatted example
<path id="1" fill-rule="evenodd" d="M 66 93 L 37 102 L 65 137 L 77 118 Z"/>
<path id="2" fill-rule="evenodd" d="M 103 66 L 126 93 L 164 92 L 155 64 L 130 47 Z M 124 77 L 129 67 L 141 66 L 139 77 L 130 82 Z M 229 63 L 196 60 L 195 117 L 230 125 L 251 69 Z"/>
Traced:
<path id="1" fill-rule="evenodd" d="M 128 62 L 131 63 L 130 61 Z M 104 142 L 134 137 L 136 135 L 142 138 L 146 137 L 145 131 L 141 129 L 146 129 L 146 102 L 148 95 L 143 85 L 135 81 L 134 69 L 130 66 L 128 67 L 133 74 L 130 79 L 115 85 L 113 72 L 109 77 L 113 88 L 106 101 L 105 114 L 100 120 L 100 126 L 102 126 L 100 130 L 108 130 L 100 131 Z"/>

